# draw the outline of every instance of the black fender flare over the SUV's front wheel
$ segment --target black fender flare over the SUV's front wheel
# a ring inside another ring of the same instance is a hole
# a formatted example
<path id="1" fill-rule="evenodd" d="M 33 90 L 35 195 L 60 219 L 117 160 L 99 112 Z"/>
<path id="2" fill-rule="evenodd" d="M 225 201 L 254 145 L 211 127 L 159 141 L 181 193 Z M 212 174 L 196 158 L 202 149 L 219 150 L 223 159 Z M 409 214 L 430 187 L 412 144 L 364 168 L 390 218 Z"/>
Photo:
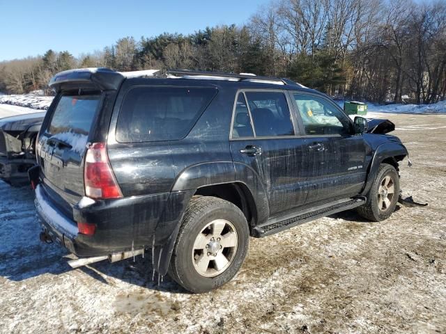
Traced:
<path id="1" fill-rule="evenodd" d="M 367 171 L 367 180 L 365 182 L 364 189 L 362 189 L 361 195 L 365 196 L 367 193 L 369 193 L 371 185 L 374 183 L 376 174 L 378 173 L 379 166 L 384 159 L 395 158 L 397 161 L 401 161 L 407 155 L 408 150 L 402 143 L 383 143 L 378 145 L 373 157 L 371 158 Z"/>

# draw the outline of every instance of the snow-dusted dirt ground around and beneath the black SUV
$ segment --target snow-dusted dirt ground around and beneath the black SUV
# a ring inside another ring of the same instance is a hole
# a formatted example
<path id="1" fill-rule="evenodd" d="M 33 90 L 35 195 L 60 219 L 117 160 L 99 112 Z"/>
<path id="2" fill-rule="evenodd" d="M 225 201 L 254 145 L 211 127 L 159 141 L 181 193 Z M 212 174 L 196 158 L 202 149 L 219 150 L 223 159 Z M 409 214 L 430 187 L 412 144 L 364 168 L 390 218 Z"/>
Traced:
<path id="1" fill-rule="evenodd" d="M 446 333 L 446 115 L 378 116 L 410 152 L 404 194 L 429 206 L 251 239 L 238 276 L 208 294 L 158 287 L 150 257 L 70 269 L 38 241 L 31 191 L 0 182 L 0 332 Z"/>

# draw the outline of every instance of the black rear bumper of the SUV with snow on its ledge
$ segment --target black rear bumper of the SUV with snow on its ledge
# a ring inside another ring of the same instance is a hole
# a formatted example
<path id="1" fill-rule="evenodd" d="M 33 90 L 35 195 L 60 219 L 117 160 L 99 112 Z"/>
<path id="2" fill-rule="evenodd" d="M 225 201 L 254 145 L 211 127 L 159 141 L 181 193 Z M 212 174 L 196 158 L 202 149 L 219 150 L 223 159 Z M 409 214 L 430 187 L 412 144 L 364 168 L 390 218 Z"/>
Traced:
<path id="1" fill-rule="evenodd" d="M 178 200 L 184 200 L 185 192 L 178 194 L 90 200 L 88 205 L 82 205 L 81 201 L 72 209 L 72 220 L 54 205 L 45 187 L 38 184 L 35 204 L 40 224 L 52 239 L 77 256 L 99 256 L 151 247 L 153 239 L 157 245 L 164 244 L 178 223 L 179 216 L 171 209 L 180 209 Z M 172 200 L 178 204 L 172 207 L 169 205 Z M 79 234 L 77 221 L 95 224 L 95 234 Z"/>

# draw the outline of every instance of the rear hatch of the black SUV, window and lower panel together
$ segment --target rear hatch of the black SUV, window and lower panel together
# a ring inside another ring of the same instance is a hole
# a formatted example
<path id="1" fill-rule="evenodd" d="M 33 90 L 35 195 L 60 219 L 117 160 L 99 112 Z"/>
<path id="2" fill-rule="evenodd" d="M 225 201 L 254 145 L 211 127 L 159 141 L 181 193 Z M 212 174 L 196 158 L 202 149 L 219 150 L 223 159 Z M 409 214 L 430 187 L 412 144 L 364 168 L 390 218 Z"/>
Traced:
<path id="1" fill-rule="evenodd" d="M 47 195 L 72 218 L 84 196 L 84 156 L 101 105 L 100 93 L 63 93 L 40 130 L 38 163 Z"/>

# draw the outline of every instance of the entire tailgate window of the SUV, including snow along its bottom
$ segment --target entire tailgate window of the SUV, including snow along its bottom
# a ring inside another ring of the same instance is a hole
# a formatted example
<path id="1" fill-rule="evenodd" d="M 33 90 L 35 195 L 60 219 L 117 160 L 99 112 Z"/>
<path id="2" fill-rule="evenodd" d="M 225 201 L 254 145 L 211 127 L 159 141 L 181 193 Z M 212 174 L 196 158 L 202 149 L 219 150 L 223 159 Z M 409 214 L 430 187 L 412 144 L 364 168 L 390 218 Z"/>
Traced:
<path id="1" fill-rule="evenodd" d="M 63 95 L 47 127 L 47 134 L 84 151 L 100 95 Z"/>

